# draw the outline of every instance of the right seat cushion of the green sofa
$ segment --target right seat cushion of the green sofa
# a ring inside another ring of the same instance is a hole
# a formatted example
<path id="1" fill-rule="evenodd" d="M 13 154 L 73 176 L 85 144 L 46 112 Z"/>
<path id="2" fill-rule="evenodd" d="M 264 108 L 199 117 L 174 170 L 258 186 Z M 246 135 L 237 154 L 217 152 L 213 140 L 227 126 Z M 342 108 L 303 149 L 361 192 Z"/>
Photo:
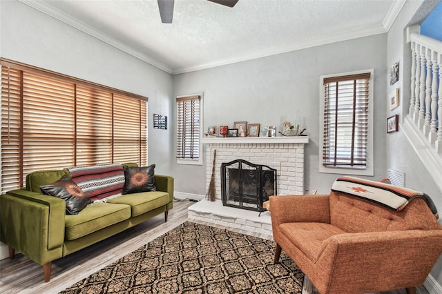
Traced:
<path id="1" fill-rule="evenodd" d="M 155 191 L 126 194 L 117 198 L 109 199 L 109 204 L 126 204 L 131 206 L 132 217 L 142 215 L 155 208 L 169 203 L 169 193 Z"/>

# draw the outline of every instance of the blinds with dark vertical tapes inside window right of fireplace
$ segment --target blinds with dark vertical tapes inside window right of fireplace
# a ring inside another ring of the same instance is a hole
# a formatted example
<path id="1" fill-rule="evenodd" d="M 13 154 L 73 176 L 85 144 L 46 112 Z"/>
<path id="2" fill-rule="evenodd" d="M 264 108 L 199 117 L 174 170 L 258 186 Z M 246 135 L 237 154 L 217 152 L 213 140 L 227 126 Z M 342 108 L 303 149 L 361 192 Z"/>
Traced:
<path id="1" fill-rule="evenodd" d="M 323 166 L 367 165 L 370 73 L 324 79 Z"/>

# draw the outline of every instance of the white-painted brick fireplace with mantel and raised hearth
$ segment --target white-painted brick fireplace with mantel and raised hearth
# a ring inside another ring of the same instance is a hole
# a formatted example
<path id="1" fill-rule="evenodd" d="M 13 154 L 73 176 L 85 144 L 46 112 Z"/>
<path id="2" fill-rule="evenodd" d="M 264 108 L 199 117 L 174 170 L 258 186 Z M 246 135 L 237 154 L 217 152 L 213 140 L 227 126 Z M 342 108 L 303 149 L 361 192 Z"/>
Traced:
<path id="1" fill-rule="evenodd" d="M 206 187 L 209 187 L 211 180 L 213 151 L 216 150 L 215 198 L 217 201 L 209 202 L 203 199 L 198 204 L 189 207 L 189 218 L 271 234 L 268 214 L 258 217 L 256 212 L 247 211 L 244 214 L 244 210 L 222 206 L 220 200 L 221 165 L 236 159 L 244 159 L 254 164 L 276 168 L 278 170 L 278 195 L 304 194 L 304 146 L 308 142 L 308 137 L 203 138 Z"/>

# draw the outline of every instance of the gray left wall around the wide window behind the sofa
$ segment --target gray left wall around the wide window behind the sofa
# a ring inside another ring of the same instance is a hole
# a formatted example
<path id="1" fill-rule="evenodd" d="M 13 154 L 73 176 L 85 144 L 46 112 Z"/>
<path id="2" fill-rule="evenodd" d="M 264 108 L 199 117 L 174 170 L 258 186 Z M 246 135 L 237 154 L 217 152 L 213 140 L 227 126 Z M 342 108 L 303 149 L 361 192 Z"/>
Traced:
<path id="1" fill-rule="evenodd" d="M 148 161 L 171 172 L 171 131 L 153 130 L 153 113 L 171 117 L 172 77 L 19 1 L 0 1 L 1 57 L 148 97 Z"/>

